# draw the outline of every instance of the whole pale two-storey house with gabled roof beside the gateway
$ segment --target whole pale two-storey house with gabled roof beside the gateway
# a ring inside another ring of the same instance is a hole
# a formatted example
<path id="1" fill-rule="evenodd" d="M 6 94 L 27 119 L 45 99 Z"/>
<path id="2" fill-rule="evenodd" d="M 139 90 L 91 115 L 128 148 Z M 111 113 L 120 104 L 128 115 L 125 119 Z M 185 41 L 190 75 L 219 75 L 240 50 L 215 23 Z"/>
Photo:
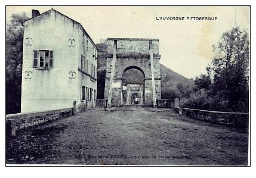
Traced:
<path id="1" fill-rule="evenodd" d="M 95 107 L 97 47 L 80 23 L 53 9 L 24 22 L 21 113 Z"/>

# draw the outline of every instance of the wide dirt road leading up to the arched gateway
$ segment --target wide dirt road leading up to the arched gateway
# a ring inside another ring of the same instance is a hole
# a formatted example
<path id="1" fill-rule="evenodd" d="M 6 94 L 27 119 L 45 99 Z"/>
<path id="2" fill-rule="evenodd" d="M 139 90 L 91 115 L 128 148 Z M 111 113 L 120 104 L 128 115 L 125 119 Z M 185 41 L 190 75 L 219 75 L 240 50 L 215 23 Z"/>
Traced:
<path id="1" fill-rule="evenodd" d="M 247 165 L 248 133 L 172 110 L 87 110 L 7 138 L 11 164 Z"/>

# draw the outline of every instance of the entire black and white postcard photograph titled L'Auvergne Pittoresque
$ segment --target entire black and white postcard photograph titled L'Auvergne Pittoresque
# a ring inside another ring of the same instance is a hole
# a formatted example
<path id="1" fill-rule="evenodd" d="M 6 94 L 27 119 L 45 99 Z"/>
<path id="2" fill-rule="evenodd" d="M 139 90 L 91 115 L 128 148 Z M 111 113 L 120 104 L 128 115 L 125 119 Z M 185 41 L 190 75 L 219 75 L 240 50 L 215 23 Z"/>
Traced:
<path id="1" fill-rule="evenodd" d="M 5 166 L 251 166 L 250 5 L 5 6 Z"/>

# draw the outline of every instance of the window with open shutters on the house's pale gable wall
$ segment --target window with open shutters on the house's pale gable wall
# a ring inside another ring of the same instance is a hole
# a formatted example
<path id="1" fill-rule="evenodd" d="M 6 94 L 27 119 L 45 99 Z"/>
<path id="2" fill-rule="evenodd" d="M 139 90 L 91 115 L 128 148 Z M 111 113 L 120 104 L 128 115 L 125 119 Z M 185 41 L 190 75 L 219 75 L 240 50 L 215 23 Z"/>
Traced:
<path id="1" fill-rule="evenodd" d="M 33 51 L 33 67 L 53 67 L 53 51 Z"/>

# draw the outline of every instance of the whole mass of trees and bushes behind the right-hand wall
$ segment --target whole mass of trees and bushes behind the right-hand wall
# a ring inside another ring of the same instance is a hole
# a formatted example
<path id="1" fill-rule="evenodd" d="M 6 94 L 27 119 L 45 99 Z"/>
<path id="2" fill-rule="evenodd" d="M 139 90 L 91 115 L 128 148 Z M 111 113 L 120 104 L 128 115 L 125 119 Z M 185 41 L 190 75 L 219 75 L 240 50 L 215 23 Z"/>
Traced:
<path id="1" fill-rule="evenodd" d="M 223 33 L 214 46 L 215 56 L 206 70 L 195 79 L 194 92 L 181 99 L 183 107 L 248 113 L 249 39 L 235 27 Z M 179 89 L 181 86 L 179 86 Z"/>

